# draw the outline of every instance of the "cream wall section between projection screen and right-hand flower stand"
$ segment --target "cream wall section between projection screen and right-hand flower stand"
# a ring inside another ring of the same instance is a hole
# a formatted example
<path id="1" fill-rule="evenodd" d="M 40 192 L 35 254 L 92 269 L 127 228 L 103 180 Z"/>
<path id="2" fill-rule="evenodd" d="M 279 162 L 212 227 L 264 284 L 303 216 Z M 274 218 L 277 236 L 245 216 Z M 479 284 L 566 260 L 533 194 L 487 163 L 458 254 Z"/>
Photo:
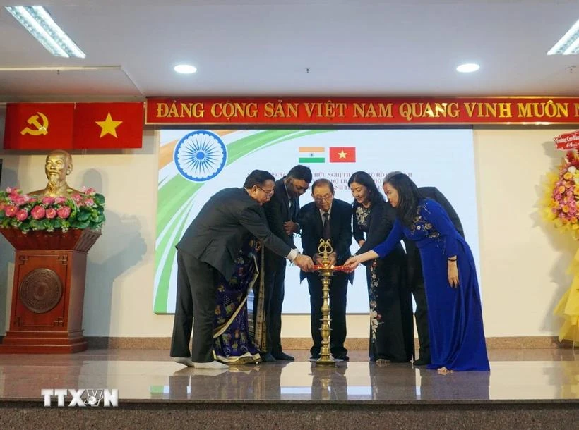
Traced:
<path id="1" fill-rule="evenodd" d="M 474 133 L 487 336 L 559 334 L 561 319 L 552 312 L 571 284 L 577 244 L 544 223 L 538 208 L 546 173 L 565 154 L 553 137 L 571 130 Z"/>

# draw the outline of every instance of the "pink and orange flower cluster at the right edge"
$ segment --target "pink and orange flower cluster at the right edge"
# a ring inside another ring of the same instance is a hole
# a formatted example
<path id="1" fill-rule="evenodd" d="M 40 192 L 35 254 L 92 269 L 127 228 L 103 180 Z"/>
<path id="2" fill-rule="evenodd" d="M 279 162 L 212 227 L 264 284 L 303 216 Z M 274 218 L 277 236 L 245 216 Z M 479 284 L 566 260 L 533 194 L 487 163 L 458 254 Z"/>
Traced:
<path id="1" fill-rule="evenodd" d="M 543 199 L 544 218 L 579 240 L 579 156 L 568 151 L 556 171 L 548 173 Z"/>

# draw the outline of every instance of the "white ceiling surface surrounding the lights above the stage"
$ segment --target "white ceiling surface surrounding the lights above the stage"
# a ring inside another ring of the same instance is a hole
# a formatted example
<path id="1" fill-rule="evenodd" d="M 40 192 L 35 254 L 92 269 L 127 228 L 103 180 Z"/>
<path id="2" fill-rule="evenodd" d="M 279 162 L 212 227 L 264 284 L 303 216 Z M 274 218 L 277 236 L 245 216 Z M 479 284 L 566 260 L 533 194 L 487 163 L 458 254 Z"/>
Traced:
<path id="1" fill-rule="evenodd" d="M 579 56 L 546 55 L 579 19 L 578 0 L 44 4 L 86 59 L 56 59 L 2 9 L 0 67 L 119 65 L 124 72 L 0 72 L 0 102 L 103 94 L 579 95 L 579 73 L 568 71 L 579 68 Z M 481 69 L 456 72 L 465 61 Z M 177 75 L 179 62 L 198 73 Z"/>

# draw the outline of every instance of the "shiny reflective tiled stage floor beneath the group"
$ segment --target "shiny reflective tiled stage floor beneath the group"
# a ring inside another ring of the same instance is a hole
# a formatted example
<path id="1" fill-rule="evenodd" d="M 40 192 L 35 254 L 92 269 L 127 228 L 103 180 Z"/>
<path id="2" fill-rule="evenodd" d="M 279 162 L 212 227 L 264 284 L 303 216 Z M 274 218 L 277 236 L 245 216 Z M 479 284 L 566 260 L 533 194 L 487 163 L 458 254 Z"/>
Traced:
<path id="1" fill-rule="evenodd" d="M 42 389 L 116 388 L 126 400 L 472 401 L 579 399 L 579 350 L 489 350 L 490 372 L 439 375 L 412 364 L 377 366 L 366 352 L 320 367 L 295 362 L 209 371 L 183 367 L 165 350 L 89 350 L 74 355 L 0 355 L 0 400 L 42 400 Z M 576 355 L 575 355 L 576 354 Z"/>

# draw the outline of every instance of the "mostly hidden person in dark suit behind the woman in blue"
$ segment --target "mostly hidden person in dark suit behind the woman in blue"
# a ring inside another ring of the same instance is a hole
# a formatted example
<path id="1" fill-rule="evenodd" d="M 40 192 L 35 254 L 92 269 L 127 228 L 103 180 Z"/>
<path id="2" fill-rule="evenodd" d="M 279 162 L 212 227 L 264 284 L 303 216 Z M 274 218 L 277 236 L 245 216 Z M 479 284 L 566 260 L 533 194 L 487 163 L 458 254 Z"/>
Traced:
<path id="1" fill-rule="evenodd" d="M 402 172 L 393 171 L 388 173 L 383 180 L 383 188 L 390 178 L 399 173 Z M 454 210 L 453 205 L 444 197 L 443 193 L 436 187 L 420 187 L 418 190 L 420 194 L 422 194 L 422 197 L 433 199 L 441 204 L 448 214 L 450 221 L 453 222 L 455 228 L 458 230 L 458 233 L 464 238 L 465 233 L 462 230 L 462 223 L 460 223 L 458 214 Z M 386 188 L 384 188 L 384 193 L 386 193 Z M 412 295 L 414 295 L 414 301 L 416 302 L 414 317 L 416 318 L 416 328 L 418 330 L 419 359 L 414 360 L 414 365 L 424 366 L 430 364 L 430 337 L 428 333 L 428 307 L 426 305 L 426 292 L 424 291 L 424 278 L 422 277 L 422 262 L 420 261 L 420 252 L 412 240 L 404 239 L 404 245 L 407 254 L 410 290 L 412 290 Z"/>

